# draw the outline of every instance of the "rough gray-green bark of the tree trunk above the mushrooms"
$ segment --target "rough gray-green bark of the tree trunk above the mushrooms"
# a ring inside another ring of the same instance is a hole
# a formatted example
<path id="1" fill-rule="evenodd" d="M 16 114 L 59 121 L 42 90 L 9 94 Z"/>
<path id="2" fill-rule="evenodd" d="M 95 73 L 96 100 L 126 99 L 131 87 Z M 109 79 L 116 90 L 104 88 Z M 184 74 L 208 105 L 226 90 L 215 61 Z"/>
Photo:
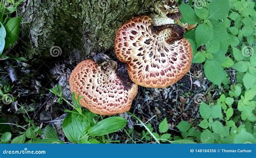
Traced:
<path id="1" fill-rule="evenodd" d="M 153 0 L 24 0 L 22 42 L 28 59 L 46 58 L 50 48 L 59 46 L 63 56 L 78 52 L 86 58 L 91 52 L 113 47 L 117 29 L 126 20 L 146 15 Z"/>

